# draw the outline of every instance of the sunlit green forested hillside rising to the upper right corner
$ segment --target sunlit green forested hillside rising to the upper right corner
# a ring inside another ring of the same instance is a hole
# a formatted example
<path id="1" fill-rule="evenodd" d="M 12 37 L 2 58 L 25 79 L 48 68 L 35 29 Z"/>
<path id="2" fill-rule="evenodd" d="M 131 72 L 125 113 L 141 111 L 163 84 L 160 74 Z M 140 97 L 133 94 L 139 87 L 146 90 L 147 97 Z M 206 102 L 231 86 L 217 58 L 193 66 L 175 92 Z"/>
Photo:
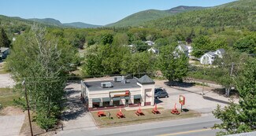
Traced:
<path id="1" fill-rule="evenodd" d="M 240 0 L 213 8 L 180 13 L 176 16 L 152 20 L 147 28 L 182 27 L 246 27 L 256 30 L 256 1 Z"/>

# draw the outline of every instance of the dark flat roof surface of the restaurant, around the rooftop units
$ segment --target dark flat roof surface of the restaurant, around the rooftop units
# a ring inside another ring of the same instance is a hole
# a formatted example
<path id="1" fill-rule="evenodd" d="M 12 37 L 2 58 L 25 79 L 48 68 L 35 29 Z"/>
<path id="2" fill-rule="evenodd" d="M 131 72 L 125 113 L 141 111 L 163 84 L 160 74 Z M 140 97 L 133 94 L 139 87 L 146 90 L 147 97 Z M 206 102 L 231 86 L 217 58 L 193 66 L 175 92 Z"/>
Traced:
<path id="1" fill-rule="evenodd" d="M 127 79 L 129 83 L 114 82 L 113 80 L 103 80 L 103 81 L 91 81 L 83 82 L 89 91 L 100 91 L 100 90 L 118 90 L 118 89 L 128 89 L 128 88 L 139 88 L 137 85 L 137 79 Z M 101 83 L 112 83 L 113 87 L 102 88 Z"/>

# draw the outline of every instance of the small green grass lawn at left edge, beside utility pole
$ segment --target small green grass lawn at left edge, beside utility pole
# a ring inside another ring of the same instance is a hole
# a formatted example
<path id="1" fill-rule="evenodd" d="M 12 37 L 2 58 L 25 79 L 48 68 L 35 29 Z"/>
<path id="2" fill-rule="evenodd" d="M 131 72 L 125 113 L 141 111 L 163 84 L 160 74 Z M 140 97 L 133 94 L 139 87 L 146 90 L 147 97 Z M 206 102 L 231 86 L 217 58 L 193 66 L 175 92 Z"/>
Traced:
<path id="1" fill-rule="evenodd" d="M 11 88 L 0 88 L 0 104 L 2 107 L 14 105 L 13 99 L 20 97 L 20 94 L 13 92 Z"/>

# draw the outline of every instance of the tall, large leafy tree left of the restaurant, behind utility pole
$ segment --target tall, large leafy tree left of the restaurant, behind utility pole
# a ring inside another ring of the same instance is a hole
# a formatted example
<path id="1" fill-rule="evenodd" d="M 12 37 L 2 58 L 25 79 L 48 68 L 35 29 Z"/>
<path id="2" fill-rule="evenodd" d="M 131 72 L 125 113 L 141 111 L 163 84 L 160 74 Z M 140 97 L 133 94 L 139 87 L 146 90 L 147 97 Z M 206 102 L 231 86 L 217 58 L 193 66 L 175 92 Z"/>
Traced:
<path id="1" fill-rule="evenodd" d="M 19 86 L 25 80 L 35 121 L 43 129 L 54 127 L 61 115 L 66 80 L 62 77 L 67 76 L 73 57 L 72 48 L 58 43 L 46 29 L 34 25 L 28 34 L 20 35 L 7 61 L 17 90 L 23 92 Z"/>

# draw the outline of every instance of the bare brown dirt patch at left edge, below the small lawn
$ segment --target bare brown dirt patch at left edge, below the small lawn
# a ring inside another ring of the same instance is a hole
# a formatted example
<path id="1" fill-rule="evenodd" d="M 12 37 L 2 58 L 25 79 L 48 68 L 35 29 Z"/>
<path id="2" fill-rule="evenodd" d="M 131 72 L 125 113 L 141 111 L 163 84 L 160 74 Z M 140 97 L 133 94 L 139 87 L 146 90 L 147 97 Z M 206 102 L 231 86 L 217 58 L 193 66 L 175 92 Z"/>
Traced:
<path id="1" fill-rule="evenodd" d="M 21 108 L 9 106 L 3 108 L 0 112 L 1 116 L 18 116 L 24 114 L 24 111 Z"/>

